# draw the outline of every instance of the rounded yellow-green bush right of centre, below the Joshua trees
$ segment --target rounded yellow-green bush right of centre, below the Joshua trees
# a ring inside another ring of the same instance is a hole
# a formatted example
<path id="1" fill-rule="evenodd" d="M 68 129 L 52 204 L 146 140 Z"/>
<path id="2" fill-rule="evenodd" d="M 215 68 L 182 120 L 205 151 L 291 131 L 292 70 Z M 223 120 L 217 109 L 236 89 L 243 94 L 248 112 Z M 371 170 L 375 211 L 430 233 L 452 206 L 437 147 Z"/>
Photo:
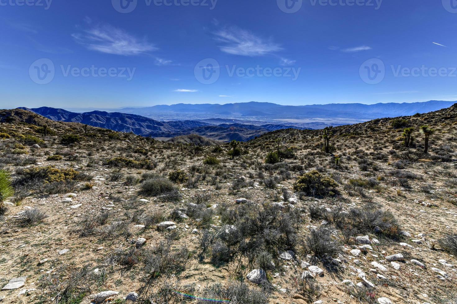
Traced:
<path id="1" fill-rule="evenodd" d="M 300 176 L 296 183 L 293 184 L 293 189 L 296 192 L 303 192 L 307 195 L 335 195 L 332 191 L 337 186 L 337 183 L 328 176 L 319 173 L 316 170 L 305 173 Z"/>

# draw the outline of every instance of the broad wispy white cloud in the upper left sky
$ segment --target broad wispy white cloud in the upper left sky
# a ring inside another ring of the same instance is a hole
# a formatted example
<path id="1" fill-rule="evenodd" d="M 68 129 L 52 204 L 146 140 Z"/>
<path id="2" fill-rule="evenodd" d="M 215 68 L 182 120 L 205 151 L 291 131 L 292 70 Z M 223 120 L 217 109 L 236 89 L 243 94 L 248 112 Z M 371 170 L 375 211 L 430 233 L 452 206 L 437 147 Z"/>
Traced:
<path id="1" fill-rule="evenodd" d="M 138 39 L 109 24 L 92 26 L 71 36 L 90 50 L 108 54 L 132 56 L 158 49 L 145 39 Z"/>

